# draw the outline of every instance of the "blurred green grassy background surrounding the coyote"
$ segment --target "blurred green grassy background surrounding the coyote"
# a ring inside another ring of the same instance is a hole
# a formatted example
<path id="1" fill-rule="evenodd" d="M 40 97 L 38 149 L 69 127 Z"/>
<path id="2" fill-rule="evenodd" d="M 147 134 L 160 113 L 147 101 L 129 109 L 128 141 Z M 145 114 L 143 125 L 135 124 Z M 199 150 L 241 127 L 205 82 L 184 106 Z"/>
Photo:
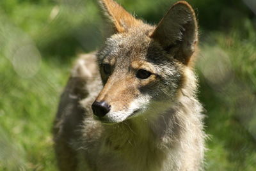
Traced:
<path id="1" fill-rule="evenodd" d="M 157 24 L 173 0 L 117 0 Z M 205 170 L 256 170 L 256 0 L 188 0 L 200 26 Z M 51 128 L 72 61 L 102 43 L 93 0 L 0 1 L 0 170 L 56 170 Z"/>

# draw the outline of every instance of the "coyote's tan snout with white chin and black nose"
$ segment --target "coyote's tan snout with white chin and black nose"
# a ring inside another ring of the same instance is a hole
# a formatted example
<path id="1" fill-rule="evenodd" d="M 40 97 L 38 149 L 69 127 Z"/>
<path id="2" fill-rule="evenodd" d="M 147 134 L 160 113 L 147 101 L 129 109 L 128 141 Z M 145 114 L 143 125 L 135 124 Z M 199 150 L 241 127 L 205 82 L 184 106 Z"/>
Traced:
<path id="1" fill-rule="evenodd" d="M 131 67 L 127 66 L 127 68 Z M 141 94 L 138 89 L 141 87 L 138 77 L 146 78 L 151 73 L 145 70 L 138 71 L 136 78 L 136 72 L 133 71 L 136 69 L 130 71 L 127 69 L 124 72 L 124 63 L 122 63 L 122 73 L 118 70 L 121 68 L 115 64 L 115 70 L 113 73 L 108 73 L 106 84 L 92 104 L 93 114 L 103 123 L 120 123 L 138 114 L 148 103 L 147 94 Z"/>

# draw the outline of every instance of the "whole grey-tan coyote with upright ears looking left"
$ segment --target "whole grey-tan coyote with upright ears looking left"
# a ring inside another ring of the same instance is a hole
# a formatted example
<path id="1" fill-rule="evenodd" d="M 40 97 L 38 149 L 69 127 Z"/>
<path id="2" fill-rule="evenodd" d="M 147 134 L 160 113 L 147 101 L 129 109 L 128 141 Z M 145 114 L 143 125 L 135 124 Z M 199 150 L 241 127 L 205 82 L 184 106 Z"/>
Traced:
<path id="1" fill-rule="evenodd" d="M 179 1 L 157 26 L 100 0 L 111 35 L 77 59 L 54 121 L 60 170 L 203 170 L 198 26 Z"/>

